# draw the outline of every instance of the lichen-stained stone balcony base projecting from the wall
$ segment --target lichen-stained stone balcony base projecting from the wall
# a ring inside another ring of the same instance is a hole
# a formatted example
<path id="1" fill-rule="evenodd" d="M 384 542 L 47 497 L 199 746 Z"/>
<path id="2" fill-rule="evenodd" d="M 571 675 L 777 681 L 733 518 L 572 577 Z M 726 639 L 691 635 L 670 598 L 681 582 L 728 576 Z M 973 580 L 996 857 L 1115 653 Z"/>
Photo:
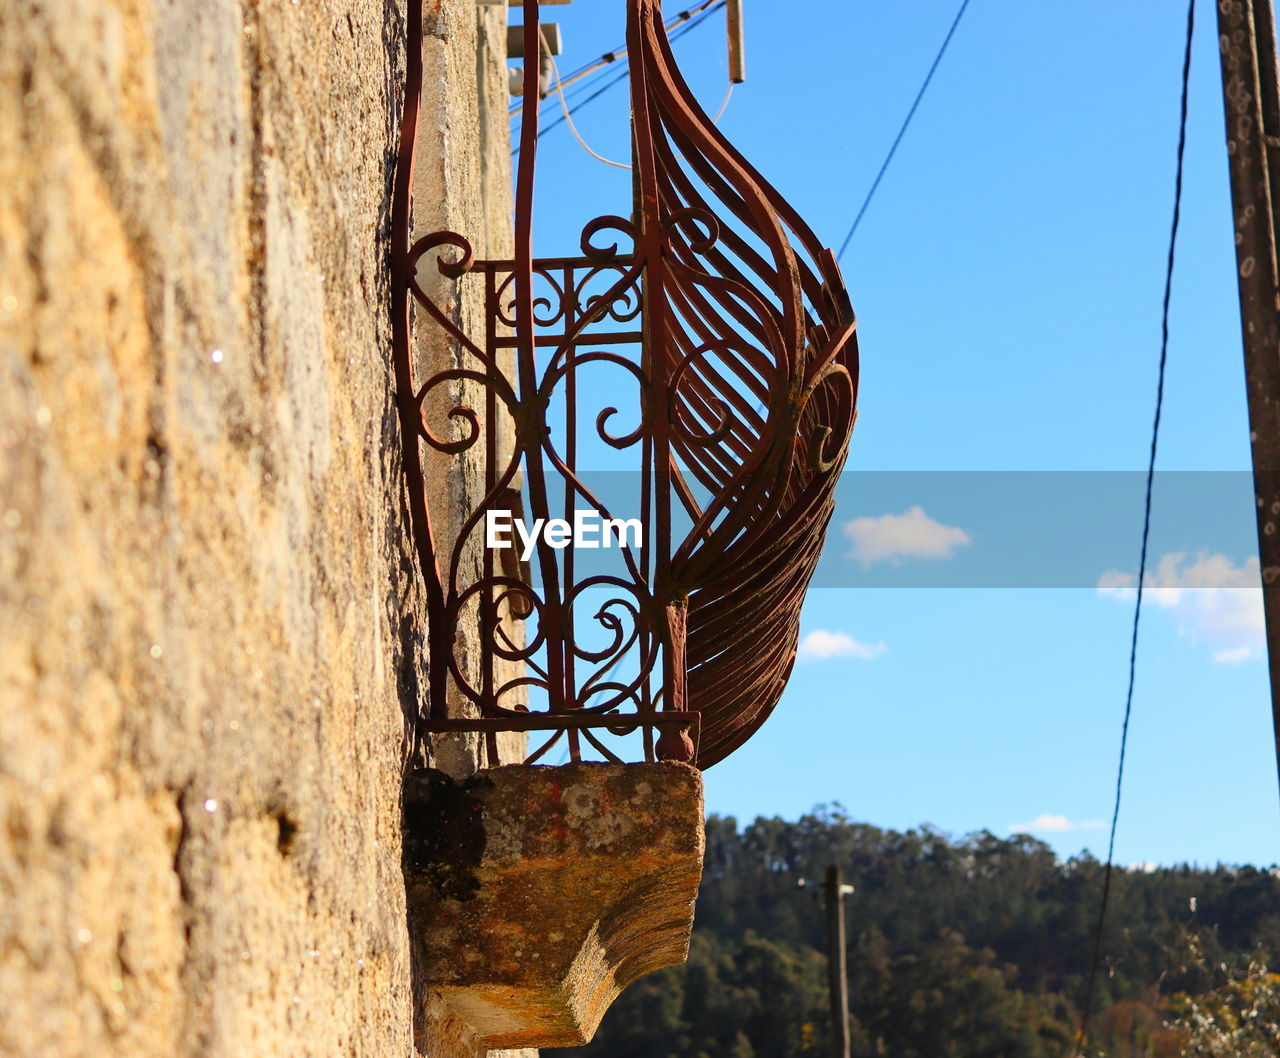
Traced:
<path id="1" fill-rule="evenodd" d="M 511 765 L 404 788 L 419 958 L 490 1046 L 573 1046 L 636 977 L 685 961 L 703 862 L 684 764 Z"/>

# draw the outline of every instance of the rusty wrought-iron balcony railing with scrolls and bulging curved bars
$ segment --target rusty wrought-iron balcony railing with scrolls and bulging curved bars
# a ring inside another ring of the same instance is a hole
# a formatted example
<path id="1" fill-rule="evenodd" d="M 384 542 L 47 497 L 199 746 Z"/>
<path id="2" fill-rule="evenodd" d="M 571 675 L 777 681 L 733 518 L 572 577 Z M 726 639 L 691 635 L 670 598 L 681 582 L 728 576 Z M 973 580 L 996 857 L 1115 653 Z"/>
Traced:
<path id="1" fill-rule="evenodd" d="M 639 729 L 646 760 L 708 768 L 760 727 L 795 661 L 856 417 L 854 312 L 835 255 L 685 84 L 659 0 L 627 0 L 634 212 L 589 223 L 581 256 L 535 258 L 538 8 L 524 0 L 515 260 L 477 261 L 452 232 L 410 242 L 422 19 L 421 0 L 408 5 L 392 283 L 396 395 L 430 620 L 422 728 L 484 732 L 492 764 L 502 730 L 544 732 L 534 761 L 561 738 L 573 760 L 585 746 L 618 760 L 608 737 Z M 483 284 L 483 343 L 422 289 L 417 270 L 431 256 L 460 285 Z M 413 374 L 413 303 L 458 351 L 458 366 L 425 381 Z M 611 370 L 609 391 L 628 386 L 636 399 L 599 411 L 584 441 L 589 368 Z M 451 391 L 466 388 L 483 408 L 452 404 Z M 442 395 L 461 438 L 428 422 Z M 509 452 L 497 439 L 503 417 L 513 423 Z M 616 420 L 634 425 L 620 432 Z M 479 569 L 468 565 L 490 510 L 614 517 L 580 468 L 585 443 L 639 471 L 643 537 L 620 549 L 620 572 L 576 573 L 573 549 L 545 539 L 532 571 L 492 549 Z M 485 495 L 442 550 L 424 454 L 480 445 Z M 460 656 L 468 622 L 479 659 L 474 645 Z M 588 645 L 593 636 L 603 645 Z"/>

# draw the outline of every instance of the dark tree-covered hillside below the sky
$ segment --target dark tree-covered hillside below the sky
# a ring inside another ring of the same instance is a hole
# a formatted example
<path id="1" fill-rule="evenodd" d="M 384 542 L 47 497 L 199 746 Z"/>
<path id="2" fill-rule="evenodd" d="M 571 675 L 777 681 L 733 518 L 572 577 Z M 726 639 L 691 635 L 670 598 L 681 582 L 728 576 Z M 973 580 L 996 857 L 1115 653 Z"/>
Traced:
<path id="1" fill-rule="evenodd" d="M 881 830 L 838 809 L 742 830 L 708 819 L 687 965 L 628 988 L 590 1045 L 545 1053 L 826 1055 L 826 920 L 812 885 L 832 862 L 856 887 L 846 904 L 855 1055 L 1070 1053 L 1102 865 L 1061 862 L 1023 835 Z M 1277 952 L 1270 870 L 1117 871 L 1089 1054 L 1280 1054 L 1280 979 L 1263 965 Z"/>

